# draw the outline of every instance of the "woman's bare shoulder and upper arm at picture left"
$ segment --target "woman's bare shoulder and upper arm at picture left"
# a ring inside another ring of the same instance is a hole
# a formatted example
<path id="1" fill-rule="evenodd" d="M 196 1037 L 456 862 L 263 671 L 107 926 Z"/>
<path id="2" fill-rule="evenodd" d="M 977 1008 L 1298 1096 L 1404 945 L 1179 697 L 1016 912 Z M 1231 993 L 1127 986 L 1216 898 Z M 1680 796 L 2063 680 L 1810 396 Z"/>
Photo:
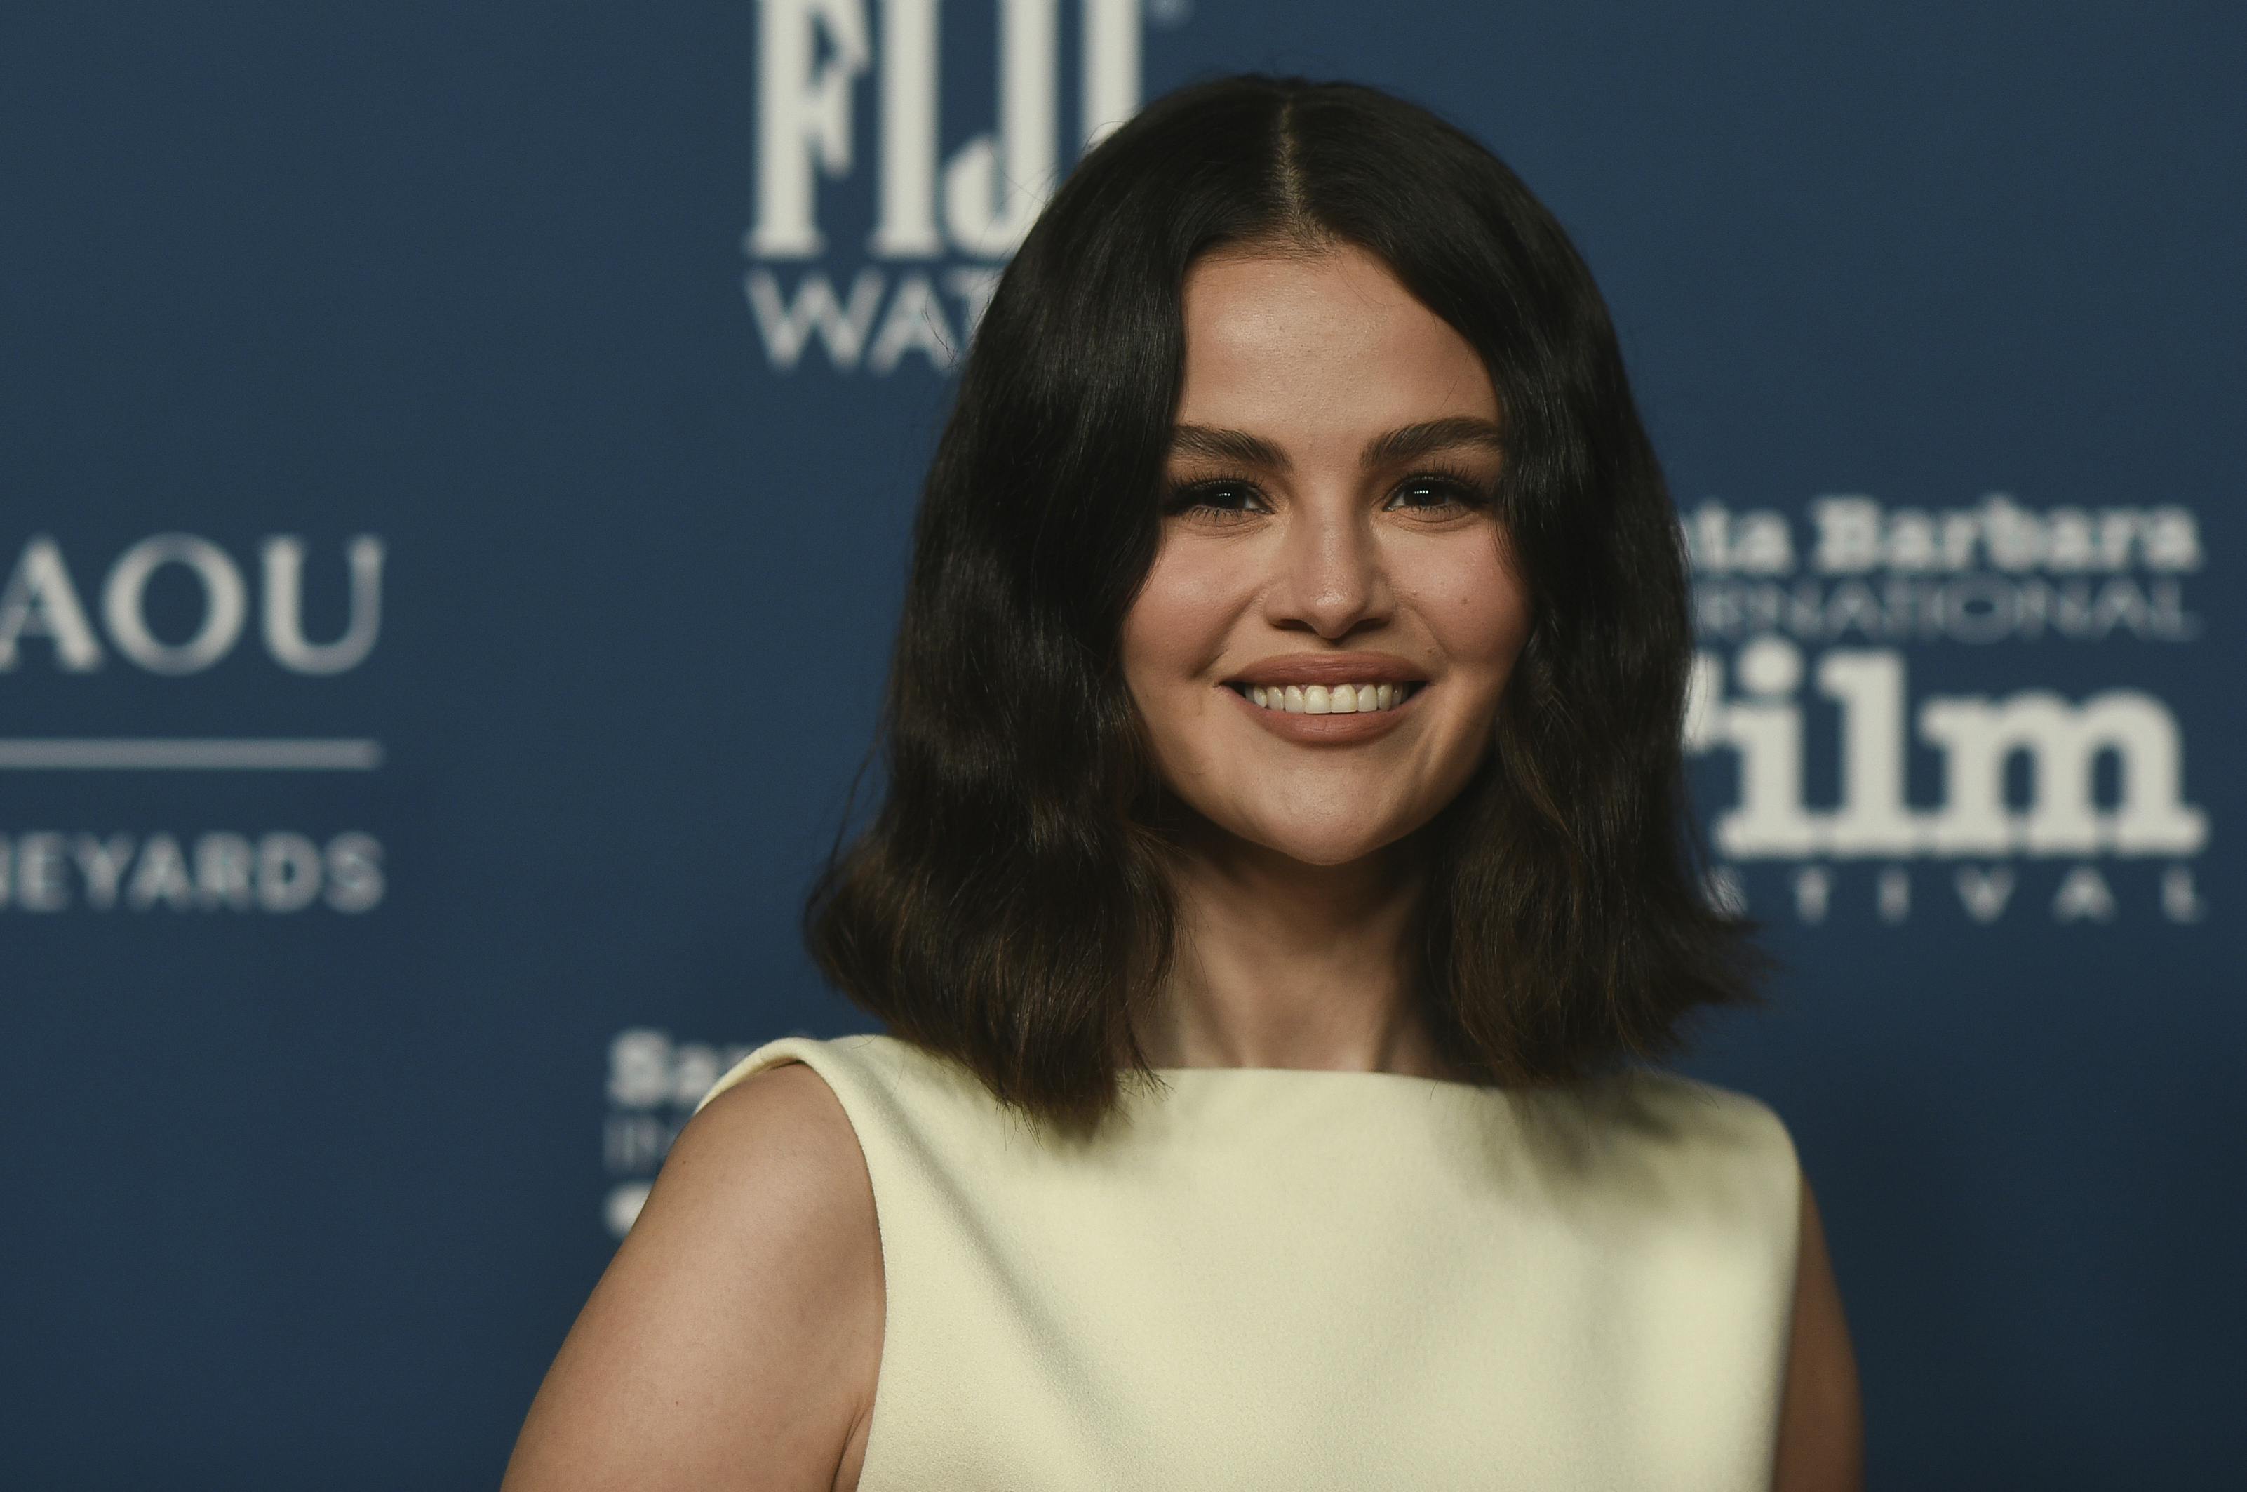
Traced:
<path id="1" fill-rule="evenodd" d="M 555 1357 L 508 1492 L 856 1481 L 881 1238 L 840 1101 L 802 1063 L 710 1099 Z"/>

